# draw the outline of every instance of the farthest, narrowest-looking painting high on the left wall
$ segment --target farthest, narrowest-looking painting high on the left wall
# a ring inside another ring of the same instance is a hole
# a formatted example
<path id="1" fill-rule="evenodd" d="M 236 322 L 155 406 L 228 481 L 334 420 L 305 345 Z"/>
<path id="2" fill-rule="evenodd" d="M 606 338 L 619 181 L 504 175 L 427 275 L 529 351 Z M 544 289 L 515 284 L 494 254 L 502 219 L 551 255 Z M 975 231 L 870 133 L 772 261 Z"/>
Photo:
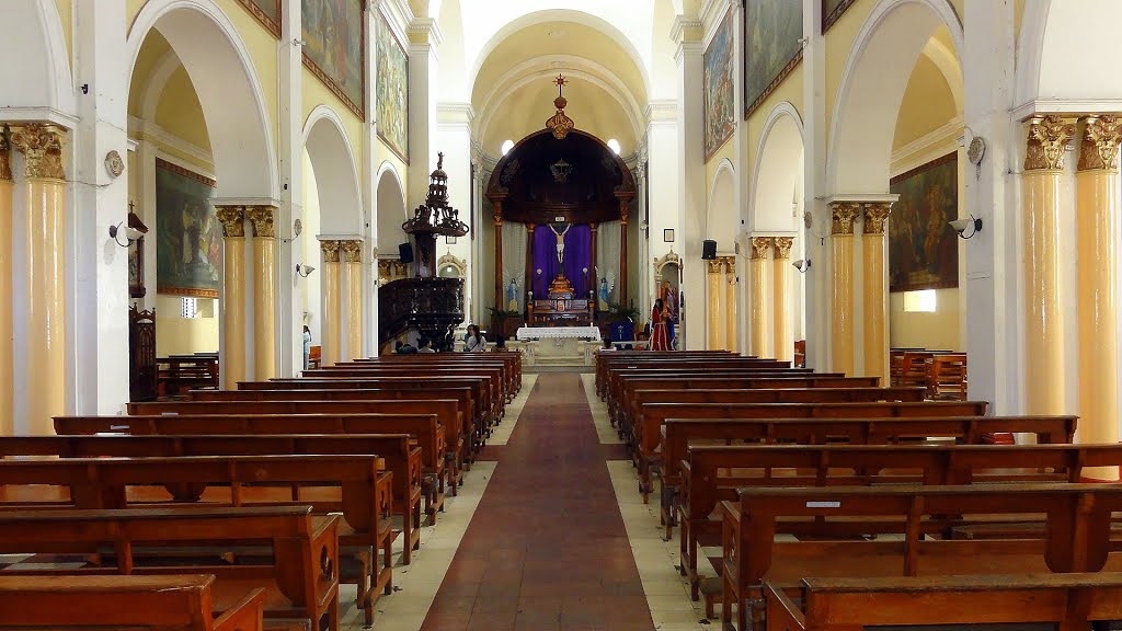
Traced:
<path id="1" fill-rule="evenodd" d="M 379 16 L 375 43 L 378 53 L 378 137 L 397 157 L 410 162 L 410 58 L 394 37 L 385 16 Z"/>

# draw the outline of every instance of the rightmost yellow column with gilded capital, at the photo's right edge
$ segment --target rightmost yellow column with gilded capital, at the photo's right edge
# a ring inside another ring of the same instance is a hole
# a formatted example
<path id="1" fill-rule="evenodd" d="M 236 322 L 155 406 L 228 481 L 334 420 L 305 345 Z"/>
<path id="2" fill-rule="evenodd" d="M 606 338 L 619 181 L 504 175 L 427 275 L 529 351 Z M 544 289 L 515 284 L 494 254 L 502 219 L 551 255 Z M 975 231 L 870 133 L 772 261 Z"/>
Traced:
<path id="1" fill-rule="evenodd" d="M 1115 295 L 1119 225 L 1119 144 L 1122 120 L 1115 116 L 1084 119 L 1076 175 L 1078 208 L 1079 440 L 1118 442 L 1118 296 Z M 1084 472 L 1096 479 L 1119 478 L 1118 467 Z"/>

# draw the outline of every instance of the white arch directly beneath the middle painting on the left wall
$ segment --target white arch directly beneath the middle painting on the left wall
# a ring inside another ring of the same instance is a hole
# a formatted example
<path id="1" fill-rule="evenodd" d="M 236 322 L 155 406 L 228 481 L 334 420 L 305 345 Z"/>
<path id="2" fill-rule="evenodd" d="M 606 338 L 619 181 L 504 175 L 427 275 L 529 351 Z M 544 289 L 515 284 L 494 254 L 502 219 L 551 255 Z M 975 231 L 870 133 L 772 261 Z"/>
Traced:
<path id="1" fill-rule="evenodd" d="M 307 116 L 304 149 L 312 161 L 319 189 L 320 231 L 362 234 L 362 195 L 355 152 L 347 141 L 342 120 L 328 106 L 316 106 Z"/>

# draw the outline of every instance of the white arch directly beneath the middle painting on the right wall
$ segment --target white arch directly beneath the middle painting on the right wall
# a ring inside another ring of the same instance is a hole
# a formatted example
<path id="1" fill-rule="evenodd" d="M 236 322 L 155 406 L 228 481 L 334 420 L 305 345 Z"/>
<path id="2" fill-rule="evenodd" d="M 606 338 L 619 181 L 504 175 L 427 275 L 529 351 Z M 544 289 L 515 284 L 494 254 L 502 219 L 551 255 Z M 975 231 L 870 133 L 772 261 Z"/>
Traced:
<path id="1" fill-rule="evenodd" d="M 748 232 L 798 231 L 798 219 L 780 211 L 802 198 L 802 118 L 793 104 L 783 101 L 769 112 L 752 163 Z"/>

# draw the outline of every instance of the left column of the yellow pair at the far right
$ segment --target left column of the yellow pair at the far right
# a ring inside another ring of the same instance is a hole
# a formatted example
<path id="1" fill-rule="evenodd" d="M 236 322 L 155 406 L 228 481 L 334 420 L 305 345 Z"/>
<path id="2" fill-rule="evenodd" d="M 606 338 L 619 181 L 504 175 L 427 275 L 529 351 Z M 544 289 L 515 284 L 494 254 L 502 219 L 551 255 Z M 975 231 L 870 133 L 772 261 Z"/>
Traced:
<path id="1" fill-rule="evenodd" d="M 1073 136 L 1075 126 L 1057 116 L 1037 116 L 1029 120 L 1024 173 L 1021 175 L 1024 204 L 1024 400 L 1029 414 L 1065 412 L 1059 213 L 1064 150 Z"/>

